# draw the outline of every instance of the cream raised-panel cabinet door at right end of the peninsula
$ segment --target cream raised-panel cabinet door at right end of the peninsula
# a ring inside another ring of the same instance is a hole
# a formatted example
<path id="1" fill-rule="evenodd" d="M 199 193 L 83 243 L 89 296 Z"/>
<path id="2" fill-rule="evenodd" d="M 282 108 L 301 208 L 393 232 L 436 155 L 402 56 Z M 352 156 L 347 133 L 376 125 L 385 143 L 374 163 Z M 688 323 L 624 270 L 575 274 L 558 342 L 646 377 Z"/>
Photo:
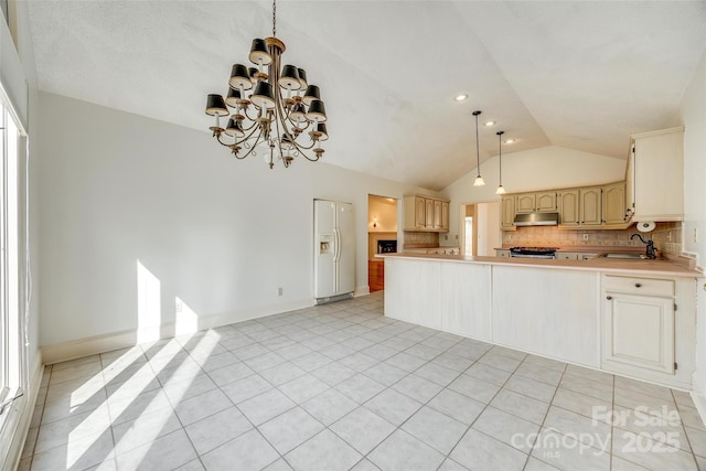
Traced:
<path id="1" fill-rule="evenodd" d="M 607 292 L 603 363 L 674 373 L 674 300 Z"/>

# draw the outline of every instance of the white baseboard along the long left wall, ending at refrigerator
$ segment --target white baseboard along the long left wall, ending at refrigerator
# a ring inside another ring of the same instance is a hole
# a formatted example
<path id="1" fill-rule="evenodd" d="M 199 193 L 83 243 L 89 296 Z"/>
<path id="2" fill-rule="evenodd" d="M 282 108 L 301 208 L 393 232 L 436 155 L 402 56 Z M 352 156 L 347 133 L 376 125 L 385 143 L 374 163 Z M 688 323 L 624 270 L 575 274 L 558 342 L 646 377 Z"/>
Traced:
<path id="1" fill-rule="evenodd" d="M 248 321 L 252 319 L 259 319 L 267 315 L 279 314 L 281 312 L 309 308 L 311 306 L 313 306 L 313 299 L 300 299 L 297 301 L 282 302 L 260 308 L 243 309 L 239 311 L 223 312 L 211 315 L 200 315 L 197 319 L 197 327 L 194 331 L 217 328 L 235 322 Z M 164 322 L 159 325 L 159 331 L 161 332 L 160 338 L 172 338 L 175 333 L 175 323 L 173 321 Z M 42 361 L 44 362 L 44 364 L 50 365 L 53 363 L 65 362 L 67 360 L 79 358 L 82 356 L 95 355 L 97 353 L 125 349 L 136 345 L 137 342 L 137 329 L 71 340 L 67 342 L 42 346 Z"/>

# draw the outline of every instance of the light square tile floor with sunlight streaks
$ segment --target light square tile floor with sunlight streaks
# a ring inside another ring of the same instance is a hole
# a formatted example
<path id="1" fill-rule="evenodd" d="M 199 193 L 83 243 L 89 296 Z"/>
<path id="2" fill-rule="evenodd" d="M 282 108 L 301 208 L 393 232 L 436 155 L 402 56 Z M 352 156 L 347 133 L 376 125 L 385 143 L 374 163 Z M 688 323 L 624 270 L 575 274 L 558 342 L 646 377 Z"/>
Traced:
<path id="1" fill-rule="evenodd" d="M 395 321 L 377 292 L 46 366 L 20 469 L 698 467 L 688 394 Z"/>

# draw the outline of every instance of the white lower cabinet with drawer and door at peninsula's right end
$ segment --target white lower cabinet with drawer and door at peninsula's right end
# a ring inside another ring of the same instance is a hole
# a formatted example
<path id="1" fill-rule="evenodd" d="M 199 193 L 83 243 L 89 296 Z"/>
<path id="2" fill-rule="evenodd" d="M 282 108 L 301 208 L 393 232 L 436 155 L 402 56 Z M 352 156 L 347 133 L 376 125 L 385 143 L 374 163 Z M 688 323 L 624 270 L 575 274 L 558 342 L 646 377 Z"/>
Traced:
<path id="1" fill-rule="evenodd" d="M 683 279 L 602 277 L 601 367 L 686 387 L 693 371 L 695 330 Z"/>

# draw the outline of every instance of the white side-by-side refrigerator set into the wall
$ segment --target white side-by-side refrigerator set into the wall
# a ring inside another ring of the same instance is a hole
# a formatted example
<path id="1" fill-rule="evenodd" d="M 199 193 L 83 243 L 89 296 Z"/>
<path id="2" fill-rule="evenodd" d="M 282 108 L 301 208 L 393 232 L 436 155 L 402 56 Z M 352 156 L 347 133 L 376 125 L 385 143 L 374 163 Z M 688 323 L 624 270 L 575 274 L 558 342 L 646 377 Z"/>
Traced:
<path id="1" fill-rule="evenodd" d="M 351 298 L 355 290 L 353 205 L 313 201 L 313 297 L 315 303 Z"/>

